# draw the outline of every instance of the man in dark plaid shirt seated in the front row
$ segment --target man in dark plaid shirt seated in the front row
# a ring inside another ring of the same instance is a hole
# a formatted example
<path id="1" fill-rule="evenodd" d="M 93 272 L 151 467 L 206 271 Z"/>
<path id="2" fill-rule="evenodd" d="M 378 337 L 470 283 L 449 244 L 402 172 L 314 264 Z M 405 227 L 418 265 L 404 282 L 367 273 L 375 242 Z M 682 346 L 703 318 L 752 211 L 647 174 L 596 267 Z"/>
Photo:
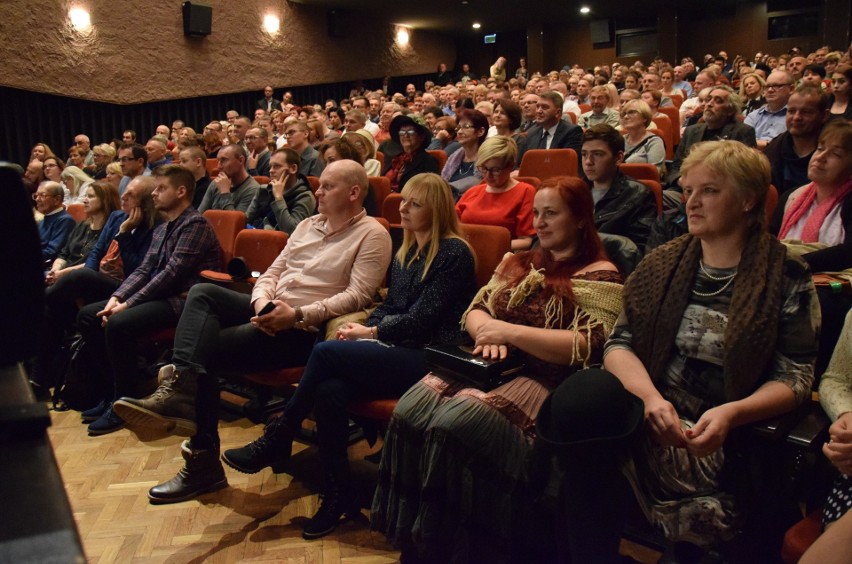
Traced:
<path id="1" fill-rule="evenodd" d="M 77 325 L 92 358 L 115 382 L 113 398 L 137 393 L 137 341 L 157 329 L 174 327 L 189 288 L 199 273 L 215 269 L 220 248 L 213 228 L 192 207 L 195 178 L 178 165 L 158 168 L 154 206 L 166 221 L 158 226 L 142 264 L 130 273 L 105 302 L 80 310 Z M 83 413 L 92 420 L 90 435 L 124 427 L 112 410 L 112 400 Z"/>

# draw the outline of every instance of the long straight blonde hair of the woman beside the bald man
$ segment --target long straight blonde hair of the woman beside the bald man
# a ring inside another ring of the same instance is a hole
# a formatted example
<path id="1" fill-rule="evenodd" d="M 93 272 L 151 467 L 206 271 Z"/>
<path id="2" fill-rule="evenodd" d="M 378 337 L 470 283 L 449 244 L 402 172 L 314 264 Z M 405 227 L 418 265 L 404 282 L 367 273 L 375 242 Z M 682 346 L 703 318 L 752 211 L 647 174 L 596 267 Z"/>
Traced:
<path id="1" fill-rule="evenodd" d="M 441 178 L 440 175 L 431 172 L 423 172 L 413 176 L 402 189 L 402 197 L 404 200 L 417 199 L 420 203 L 426 206 L 432 212 L 432 230 L 430 234 L 429 250 L 426 253 L 426 262 L 423 267 L 423 276 L 421 280 L 426 278 L 429 273 L 429 267 L 432 266 L 432 261 L 438 254 L 438 249 L 441 246 L 441 241 L 444 239 L 460 239 L 465 245 L 470 248 L 470 245 L 465 241 L 459 225 L 459 216 L 456 213 L 456 203 L 453 197 L 453 191 L 447 181 Z M 418 254 L 411 258 L 408 264 L 405 264 L 405 257 L 408 251 L 416 244 L 414 232 L 408 229 L 402 237 L 402 245 L 396 252 L 396 260 L 405 268 L 411 267 Z M 471 254 L 476 257 L 473 249 L 470 249 Z"/>

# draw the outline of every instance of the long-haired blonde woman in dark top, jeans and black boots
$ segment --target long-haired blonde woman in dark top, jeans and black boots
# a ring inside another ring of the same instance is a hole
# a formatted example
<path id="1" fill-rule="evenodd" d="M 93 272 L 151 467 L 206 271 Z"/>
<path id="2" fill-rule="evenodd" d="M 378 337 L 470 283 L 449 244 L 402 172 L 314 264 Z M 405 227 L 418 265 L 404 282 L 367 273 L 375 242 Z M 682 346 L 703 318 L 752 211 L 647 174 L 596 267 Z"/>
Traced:
<path id="1" fill-rule="evenodd" d="M 419 174 L 405 185 L 402 198 L 404 236 L 387 299 L 363 324 L 341 327 L 337 341 L 317 344 L 284 415 L 261 438 L 222 456 L 246 473 L 285 467 L 293 437 L 313 410 L 326 491 L 320 509 L 304 525 L 307 539 L 332 532 L 342 516 L 358 513 L 346 456 L 349 401 L 365 395 L 396 398 L 422 378 L 427 372 L 423 347 L 458 341 L 458 320 L 476 291 L 473 253 L 447 183 L 434 174 Z"/>

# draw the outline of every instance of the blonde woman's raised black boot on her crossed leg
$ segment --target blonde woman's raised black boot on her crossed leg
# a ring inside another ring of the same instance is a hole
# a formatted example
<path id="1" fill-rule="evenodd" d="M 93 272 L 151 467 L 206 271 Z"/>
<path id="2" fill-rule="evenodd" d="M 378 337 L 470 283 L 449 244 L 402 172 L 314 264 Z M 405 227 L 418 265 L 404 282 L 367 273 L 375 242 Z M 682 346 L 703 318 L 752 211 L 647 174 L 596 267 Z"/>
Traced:
<path id="1" fill-rule="evenodd" d="M 286 472 L 293 437 L 296 431 L 288 426 L 284 416 L 275 417 L 263 429 L 263 435 L 242 448 L 232 448 L 222 454 L 222 460 L 244 474 L 256 474 L 267 466 L 276 474 Z"/>

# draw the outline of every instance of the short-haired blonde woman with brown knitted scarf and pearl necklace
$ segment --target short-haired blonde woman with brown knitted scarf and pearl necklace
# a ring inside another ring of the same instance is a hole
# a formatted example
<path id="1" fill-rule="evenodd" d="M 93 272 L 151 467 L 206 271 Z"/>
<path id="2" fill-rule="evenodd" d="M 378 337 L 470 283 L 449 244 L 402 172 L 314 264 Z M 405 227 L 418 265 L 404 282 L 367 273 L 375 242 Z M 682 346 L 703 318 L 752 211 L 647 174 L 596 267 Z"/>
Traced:
<path id="1" fill-rule="evenodd" d="M 577 445 L 606 446 L 572 428 L 582 418 L 598 429 L 588 404 L 582 412 L 563 405 L 562 423 L 539 434 L 564 443 L 557 445 L 566 473 L 559 528 L 572 562 L 615 561 L 630 487 L 645 517 L 675 541 L 678 562 L 697 562 L 711 549 L 762 562 L 773 542 L 780 546 L 770 538 L 781 525 L 773 490 L 780 476 L 763 471 L 772 451 L 744 441 L 747 430 L 737 428 L 810 397 L 816 293 L 806 265 L 764 227 L 765 157 L 736 141 L 710 141 L 696 145 L 681 170 L 689 234 L 655 249 L 630 276 L 604 351 L 602 377 L 614 375 L 644 403 L 644 436 L 586 455 Z M 583 383 L 564 384 L 567 395 L 609 402 Z"/>

